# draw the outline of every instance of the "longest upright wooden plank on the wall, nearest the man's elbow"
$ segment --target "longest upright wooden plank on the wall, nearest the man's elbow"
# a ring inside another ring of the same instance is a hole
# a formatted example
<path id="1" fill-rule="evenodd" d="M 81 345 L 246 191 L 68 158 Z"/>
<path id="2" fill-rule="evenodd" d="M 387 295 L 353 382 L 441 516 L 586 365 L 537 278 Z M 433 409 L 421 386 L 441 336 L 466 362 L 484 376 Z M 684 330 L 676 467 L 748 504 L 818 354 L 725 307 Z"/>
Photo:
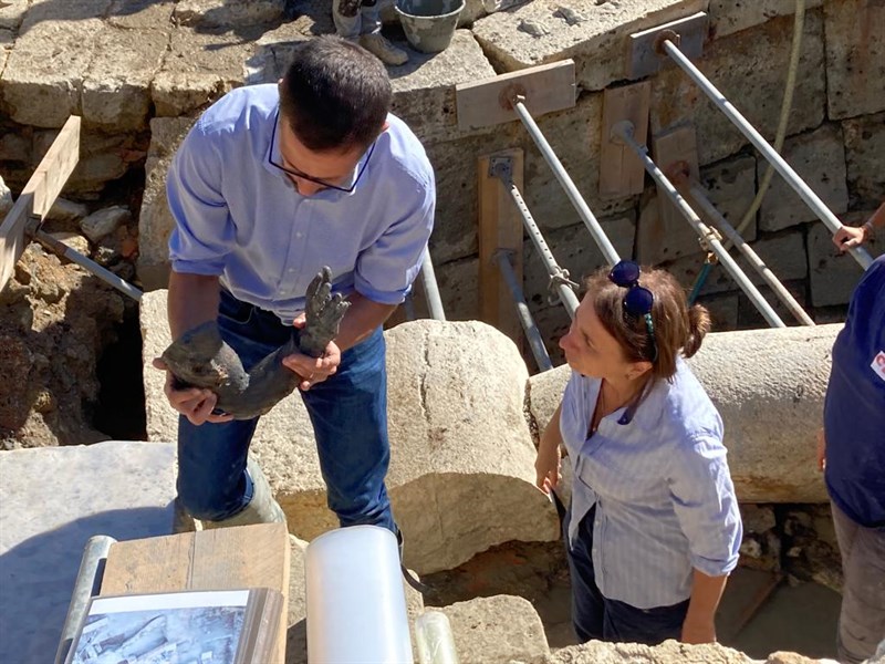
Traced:
<path id="1" fill-rule="evenodd" d="M 516 304 L 494 258 L 510 251 L 517 283 L 522 283 L 522 217 L 510 194 L 489 175 L 493 158 L 509 158 L 513 183 L 522 191 L 523 155 L 519 148 L 485 155 L 477 160 L 479 178 L 479 311 L 480 319 L 497 328 L 522 347 L 522 326 Z"/>

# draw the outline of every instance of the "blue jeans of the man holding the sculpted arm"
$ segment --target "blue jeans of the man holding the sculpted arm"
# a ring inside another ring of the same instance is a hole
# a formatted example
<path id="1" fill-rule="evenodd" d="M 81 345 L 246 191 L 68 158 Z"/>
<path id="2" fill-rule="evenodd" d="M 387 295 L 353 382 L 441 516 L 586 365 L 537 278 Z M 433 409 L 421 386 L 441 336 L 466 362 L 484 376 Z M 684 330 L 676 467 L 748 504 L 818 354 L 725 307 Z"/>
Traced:
<path id="1" fill-rule="evenodd" d="M 223 290 L 218 324 L 247 371 L 299 334 L 275 314 Z M 396 532 L 384 486 L 391 448 L 381 328 L 342 353 L 337 373 L 299 393 L 313 424 L 329 507 L 341 525 L 371 523 Z M 177 489 L 188 513 L 220 521 L 249 504 L 252 485 L 246 459 L 257 423 L 258 418 L 195 426 L 179 417 Z"/>

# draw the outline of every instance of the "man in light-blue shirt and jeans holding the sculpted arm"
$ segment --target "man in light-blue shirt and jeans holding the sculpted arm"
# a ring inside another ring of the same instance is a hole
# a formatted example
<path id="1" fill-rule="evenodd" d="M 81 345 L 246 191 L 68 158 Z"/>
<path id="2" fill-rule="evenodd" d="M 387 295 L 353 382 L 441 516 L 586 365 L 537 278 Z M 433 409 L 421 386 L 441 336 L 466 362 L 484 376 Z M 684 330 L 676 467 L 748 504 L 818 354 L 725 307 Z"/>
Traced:
<path id="1" fill-rule="evenodd" d="M 384 484 L 382 325 L 420 269 L 435 185 L 391 102 L 375 56 L 320 37 L 299 48 L 278 84 L 233 90 L 207 110 L 167 178 L 168 319 L 173 339 L 217 319 L 249 370 L 299 334 L 308 284 L 329 266 L 333 292 L 350 301 L 339 334 L 323 356 L 292 354 L 283 364 L 301 378 L 329 507 L 342 526 L 398 536 Z M 166 395 L 180 413 L 177 523 L 284 521 L 248 459 L 257 419 L 215 412 L 211 391 L 176 390 L 168 372 Z"/>

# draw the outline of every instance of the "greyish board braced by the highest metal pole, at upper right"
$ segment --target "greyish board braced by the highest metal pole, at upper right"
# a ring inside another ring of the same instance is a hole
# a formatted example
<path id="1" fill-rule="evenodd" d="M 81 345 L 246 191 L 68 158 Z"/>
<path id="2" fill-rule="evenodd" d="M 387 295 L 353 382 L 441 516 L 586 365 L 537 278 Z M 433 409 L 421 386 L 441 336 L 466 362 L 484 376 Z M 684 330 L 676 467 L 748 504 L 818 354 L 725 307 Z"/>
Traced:
<path id="1" fill-rule="evenodd" d="M 667 62 L 663 50 L 664 40 L 669 40 L 686 58 L 700 58 L 707 38 L 707 14 L 696 14 L 677 19 L 642 32 L 634 32 L 628 39 L 627 79 L 642 79 L 656 73 Z"/>

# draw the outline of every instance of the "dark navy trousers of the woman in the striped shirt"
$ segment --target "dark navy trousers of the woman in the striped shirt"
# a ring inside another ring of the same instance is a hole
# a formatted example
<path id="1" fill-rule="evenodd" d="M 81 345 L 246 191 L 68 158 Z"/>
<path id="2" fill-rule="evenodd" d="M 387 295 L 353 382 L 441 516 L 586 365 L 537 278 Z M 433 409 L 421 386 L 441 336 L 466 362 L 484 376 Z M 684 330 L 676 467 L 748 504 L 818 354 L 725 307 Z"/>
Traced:
<path id="1" fill-rule="evenodd" d="M 570 509 L 562 525 L 569 571 L 572 578 L 572 625 L 581 643 L 591 639 L 657 645 L 678 640 L 688 612 L 688 600 L 671 606 L 638 609 L 610 600 L 596 585 L 593 569 L 593 507 L 581 520 L 573 547 L 569 546 Z"/>

